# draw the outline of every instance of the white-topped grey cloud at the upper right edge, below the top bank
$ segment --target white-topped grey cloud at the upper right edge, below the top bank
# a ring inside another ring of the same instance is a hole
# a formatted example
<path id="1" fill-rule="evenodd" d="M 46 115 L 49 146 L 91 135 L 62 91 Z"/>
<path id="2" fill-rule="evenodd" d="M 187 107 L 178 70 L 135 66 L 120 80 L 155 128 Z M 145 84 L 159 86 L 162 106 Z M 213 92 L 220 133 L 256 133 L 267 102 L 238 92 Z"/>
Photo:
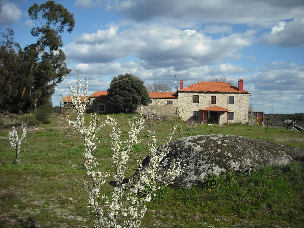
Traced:
<path id="1" fill-rule="evenodd" d="M 304 45 L 304 17 L 293 21 L 278 22 L 271 28 L 270 33 L 262 36 L 267 45 L 279 47 L 296 47 Z"/>

